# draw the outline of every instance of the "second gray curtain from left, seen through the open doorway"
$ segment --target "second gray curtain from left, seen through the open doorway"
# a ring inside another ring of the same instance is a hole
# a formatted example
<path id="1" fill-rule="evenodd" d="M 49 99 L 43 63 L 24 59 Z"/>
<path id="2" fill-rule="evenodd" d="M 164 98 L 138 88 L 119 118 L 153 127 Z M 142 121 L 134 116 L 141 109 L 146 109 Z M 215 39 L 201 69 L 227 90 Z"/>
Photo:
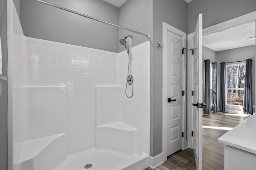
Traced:
<path id="1" fill-rule="evenodd" d="M 212 63 L 212 111 L 218 111 L 217 105 L 217 62 Z"/>

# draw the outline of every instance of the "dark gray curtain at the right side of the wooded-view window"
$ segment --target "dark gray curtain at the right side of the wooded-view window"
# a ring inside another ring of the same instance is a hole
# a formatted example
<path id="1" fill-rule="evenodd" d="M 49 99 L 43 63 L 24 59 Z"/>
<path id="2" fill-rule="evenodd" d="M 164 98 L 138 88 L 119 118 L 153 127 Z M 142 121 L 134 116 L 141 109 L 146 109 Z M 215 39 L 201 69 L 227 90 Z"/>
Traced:
<path id="1" fill-rule="evenodd" d="M 246 60 L 246 72 L 244 82 L 244 102 L 243 102 L 244 113 L 252 115 L 252 60 Z"/>

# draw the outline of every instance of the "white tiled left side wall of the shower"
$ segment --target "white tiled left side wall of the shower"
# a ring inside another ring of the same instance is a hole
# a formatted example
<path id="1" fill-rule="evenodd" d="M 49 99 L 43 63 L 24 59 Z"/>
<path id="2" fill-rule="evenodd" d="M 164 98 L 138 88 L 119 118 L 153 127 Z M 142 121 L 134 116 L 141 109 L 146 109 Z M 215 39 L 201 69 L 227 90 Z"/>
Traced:
<path id="1" fill-rule="evenodd" d="M 28 140 L 27 39 L 12 1 L 7 1 L 7 9 L 8 169 L 13 169 Z"/>

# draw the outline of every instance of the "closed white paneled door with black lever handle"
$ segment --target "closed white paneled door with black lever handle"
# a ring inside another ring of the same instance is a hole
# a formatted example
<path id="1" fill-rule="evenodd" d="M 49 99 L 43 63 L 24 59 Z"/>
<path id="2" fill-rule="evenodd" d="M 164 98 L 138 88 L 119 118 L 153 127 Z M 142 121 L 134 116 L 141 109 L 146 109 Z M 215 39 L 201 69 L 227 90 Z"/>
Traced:
<path id="1" fill-rule="evenodd" d="M 186 43 L 186 33 L 170 28 L 166 45 L 167 98 L 163 101 L 167 102 L 167 156 L 182 149 L 182 49 Z"/>

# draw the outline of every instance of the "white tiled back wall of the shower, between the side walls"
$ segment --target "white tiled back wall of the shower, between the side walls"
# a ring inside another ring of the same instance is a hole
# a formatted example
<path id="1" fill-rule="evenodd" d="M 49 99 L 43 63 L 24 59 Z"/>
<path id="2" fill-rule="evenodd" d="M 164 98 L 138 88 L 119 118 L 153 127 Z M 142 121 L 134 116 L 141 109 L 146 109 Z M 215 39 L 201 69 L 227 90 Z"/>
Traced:
<path id="1" fill-rule="evenodd" d="M 69 154 L 94 147 L 94 86 L 116 84 L 117 54 L 28 40 L 30 139 L 67 132 Z"/>

